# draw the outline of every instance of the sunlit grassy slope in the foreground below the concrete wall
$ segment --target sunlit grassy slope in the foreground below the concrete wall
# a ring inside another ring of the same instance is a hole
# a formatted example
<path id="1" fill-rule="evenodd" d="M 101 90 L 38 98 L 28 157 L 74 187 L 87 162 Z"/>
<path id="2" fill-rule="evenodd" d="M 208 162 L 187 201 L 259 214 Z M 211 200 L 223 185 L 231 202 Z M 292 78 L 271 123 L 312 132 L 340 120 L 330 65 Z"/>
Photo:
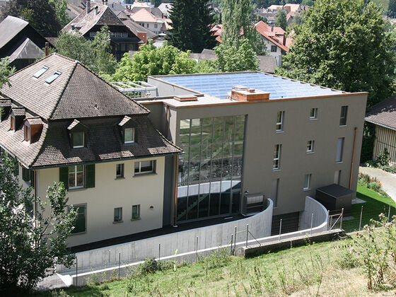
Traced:
<path id="1" fill-rule="evenodd" d="M 37 296 L 376 296 L 363 270 L 342 269 L 339 260 L 351 239 L 313 243 L 252 259 L 206 258 L 146 276 L 92 284 Z M 383 296 L 383 295 L 378 295 Z"/>

